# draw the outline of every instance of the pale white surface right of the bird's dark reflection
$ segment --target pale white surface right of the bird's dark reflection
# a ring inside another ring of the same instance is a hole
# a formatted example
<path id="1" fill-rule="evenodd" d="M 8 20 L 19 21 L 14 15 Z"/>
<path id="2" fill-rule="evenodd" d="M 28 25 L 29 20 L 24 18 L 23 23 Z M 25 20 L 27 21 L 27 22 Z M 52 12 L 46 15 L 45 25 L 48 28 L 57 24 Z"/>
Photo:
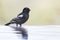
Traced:
<path id="1" fill-rule="evenodd" d="M 60 40 L 59 26 L 35 26 L 29 28 L 28 40 Z"/>

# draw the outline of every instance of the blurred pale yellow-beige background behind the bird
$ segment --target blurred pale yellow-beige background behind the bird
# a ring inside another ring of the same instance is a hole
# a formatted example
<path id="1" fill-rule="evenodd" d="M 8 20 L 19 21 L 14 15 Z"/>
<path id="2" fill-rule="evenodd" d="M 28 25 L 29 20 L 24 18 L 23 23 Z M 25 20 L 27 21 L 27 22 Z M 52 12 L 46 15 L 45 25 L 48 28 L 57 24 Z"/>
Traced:
<path id="1" fill-rule="evenodd" d="M 60 25 L 60 0 L 0 0 L 0 24 L 9 22 L 24 7 L 31 9 L 24 25 Z"/>

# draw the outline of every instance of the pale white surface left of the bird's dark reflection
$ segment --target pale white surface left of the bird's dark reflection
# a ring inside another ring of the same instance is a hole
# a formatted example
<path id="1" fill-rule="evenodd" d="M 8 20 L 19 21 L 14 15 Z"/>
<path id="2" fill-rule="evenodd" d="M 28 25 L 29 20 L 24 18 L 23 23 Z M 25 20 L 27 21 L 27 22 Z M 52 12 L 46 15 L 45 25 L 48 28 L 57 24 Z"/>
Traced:
<path id="1" fill-rule="evenodd" d="M 19 38 L 18 38 L 18 34 L 15 33 L 14 29 L 8 26 L 0 26 L 0 40 L 21 40 L 22 39 L 21 37 Z"/>

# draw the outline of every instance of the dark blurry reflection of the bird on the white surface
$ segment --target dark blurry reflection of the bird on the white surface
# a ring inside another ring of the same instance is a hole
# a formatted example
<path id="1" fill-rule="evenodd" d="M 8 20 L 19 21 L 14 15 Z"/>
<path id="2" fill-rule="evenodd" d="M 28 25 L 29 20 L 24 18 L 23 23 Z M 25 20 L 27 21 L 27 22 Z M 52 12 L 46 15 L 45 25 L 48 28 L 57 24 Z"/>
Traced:
<path id="1" fill-rule="evenodd" d="M 23 27 L 13 27 L 13 26 L 10 26 L 14 29 L 14 31 L 18 31 L 16 32 L 16 34 L 22 34 L 22 38 L 24 40 L 28 40 L 28 33 L 27 33 L 27 30 Z"/>

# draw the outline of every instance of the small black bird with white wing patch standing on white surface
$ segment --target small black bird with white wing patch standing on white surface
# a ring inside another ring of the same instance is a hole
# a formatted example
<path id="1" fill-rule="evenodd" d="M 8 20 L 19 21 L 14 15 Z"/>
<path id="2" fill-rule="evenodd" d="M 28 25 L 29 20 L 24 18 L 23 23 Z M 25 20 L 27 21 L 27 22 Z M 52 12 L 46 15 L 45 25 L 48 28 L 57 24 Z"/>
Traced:
<path id="1" fill-rule="evenodd" d="M 17 15 L 17 17 L 13 18 L 10 22 L 6 23 L 6 26 L 9 26 L 10 24 L 16 24 L 16 26 L 24 24 L 29 19 L 29 12 L 30 8 L 25 7 L 23 8 L 22 12 Z"/>

